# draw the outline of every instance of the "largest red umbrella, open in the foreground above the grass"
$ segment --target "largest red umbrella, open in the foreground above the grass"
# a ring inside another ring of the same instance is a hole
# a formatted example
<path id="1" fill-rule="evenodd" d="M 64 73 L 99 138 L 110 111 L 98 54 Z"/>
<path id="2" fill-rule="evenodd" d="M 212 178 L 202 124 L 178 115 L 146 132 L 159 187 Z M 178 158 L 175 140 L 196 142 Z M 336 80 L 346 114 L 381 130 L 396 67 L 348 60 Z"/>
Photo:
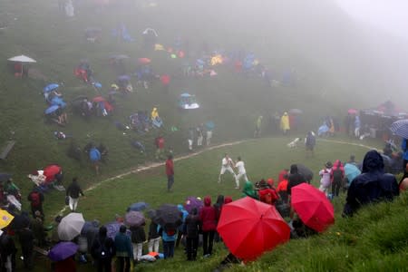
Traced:
<path id="1" fill-rule="evenodd" d="M 253 260 L 290 237 L 274 206 L 249 197 L 222 206 L 217 230 L 229 251 L 243 260 Z"/>

